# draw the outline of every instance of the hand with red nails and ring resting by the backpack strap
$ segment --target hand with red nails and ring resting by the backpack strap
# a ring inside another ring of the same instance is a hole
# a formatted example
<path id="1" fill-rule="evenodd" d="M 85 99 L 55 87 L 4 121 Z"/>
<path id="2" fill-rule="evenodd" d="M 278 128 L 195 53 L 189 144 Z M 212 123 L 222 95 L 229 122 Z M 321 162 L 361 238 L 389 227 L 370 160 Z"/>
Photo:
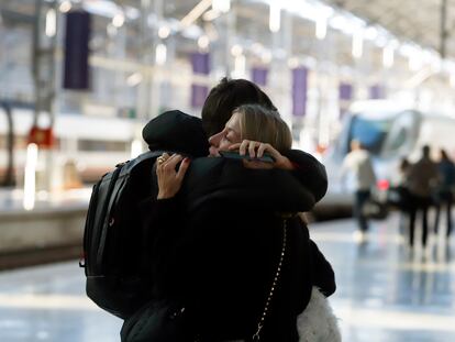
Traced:
<path id="1" fill-rule="evenodd" d="M 176 166 L 180 162 L 181 164 L 176 172 Z M 157 199 L 171 198 L 181 188 L 181 183 L 189 167 L 190 159 L 184 158 L 179 154 L 169 156 L 167 153 L 164 153 L 157 158 L 156 163 L 156 176 L 158 177 L 159 189 Z"/>

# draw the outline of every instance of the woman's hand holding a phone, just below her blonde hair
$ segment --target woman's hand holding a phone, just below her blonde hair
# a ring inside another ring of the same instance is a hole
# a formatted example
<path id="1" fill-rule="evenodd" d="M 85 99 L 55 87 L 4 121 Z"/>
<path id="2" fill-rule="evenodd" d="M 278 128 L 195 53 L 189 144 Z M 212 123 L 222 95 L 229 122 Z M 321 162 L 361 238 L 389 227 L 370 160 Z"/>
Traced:
<path id="1" fill-rule="evenodd" d="M 238 150 L 241 155 L 248 153 L 252 159 L 263 157 L 264 153 L 268 153 L 274 158 L 274 163 L 244 159 L 243 164 L 248 168 L 293 169 L 292 163 L 268 143 L 244 140 L 242 143 L 231 145 L 229 150 Z"/>

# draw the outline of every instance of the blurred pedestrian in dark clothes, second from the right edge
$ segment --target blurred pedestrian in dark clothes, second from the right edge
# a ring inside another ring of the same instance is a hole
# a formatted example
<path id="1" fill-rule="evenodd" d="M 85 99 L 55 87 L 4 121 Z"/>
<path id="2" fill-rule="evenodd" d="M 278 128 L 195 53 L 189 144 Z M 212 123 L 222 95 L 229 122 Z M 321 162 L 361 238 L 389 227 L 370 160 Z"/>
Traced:
<path id="1" fill-rule="evenodd" d="M 433 203 L 433 194 L 439 173 L 436 163 L 430 158 L 430 146 L 422 147 L 422 157 L 411 164 L 408 172 L 409 189 L 409 245 L 414 245 L 414 230 L 417 212 L 422 213 L 422 246 L 426 246 L 428 211 Z"/>

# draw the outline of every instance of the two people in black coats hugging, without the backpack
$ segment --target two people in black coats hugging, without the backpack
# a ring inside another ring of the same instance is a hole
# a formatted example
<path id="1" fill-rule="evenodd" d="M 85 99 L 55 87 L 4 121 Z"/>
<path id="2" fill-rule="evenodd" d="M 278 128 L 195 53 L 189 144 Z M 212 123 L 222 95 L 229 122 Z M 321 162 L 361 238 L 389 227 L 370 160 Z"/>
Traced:
<path id="1" fill-rule="evenodd" d="M 309 317 L 335 277 L 299 214 L 324 196 L 325 169 L 291 150 L 270 99 L 224 78 L 202 120 L 165 112 L 143 136 L 163 151 L 141 203 L 152 300 L 125 320 L 122 341 L 340 341 L 333 317 Z"/>

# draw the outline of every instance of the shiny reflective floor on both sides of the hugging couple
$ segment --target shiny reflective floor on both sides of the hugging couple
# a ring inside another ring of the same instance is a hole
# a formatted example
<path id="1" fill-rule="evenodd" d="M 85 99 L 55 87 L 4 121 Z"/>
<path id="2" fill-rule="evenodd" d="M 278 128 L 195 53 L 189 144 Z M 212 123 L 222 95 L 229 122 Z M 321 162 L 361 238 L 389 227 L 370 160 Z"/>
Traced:
<path id="1" fill-rule="evenodd" d="M 455 241 L 409 251 L 398 225 L 398 216 L 373 222 L 359 243 L 351 220 L 311 224 L 336 273 L 343 340 L 453 342 Z M 0 273 L 0 341 L 120 341 L 121 321 L 85 297 L 84 280 L 76 261 Z"/>

